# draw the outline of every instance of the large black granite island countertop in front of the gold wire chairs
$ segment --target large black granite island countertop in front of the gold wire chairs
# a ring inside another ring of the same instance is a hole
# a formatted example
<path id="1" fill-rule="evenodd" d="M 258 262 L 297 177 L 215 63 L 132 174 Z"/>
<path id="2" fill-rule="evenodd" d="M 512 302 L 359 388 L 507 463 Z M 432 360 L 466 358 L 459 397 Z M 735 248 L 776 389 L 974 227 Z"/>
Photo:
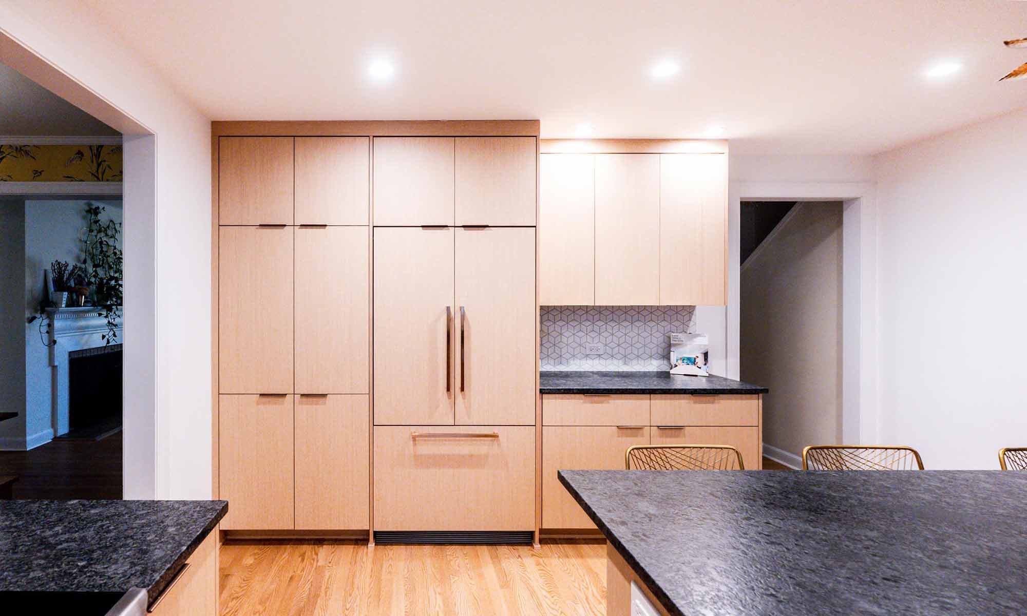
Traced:
<path id="1" fill-rule="evenodd" d="M 671 614 L 1027 614 L 1027 473 L 559 474 Z"/>

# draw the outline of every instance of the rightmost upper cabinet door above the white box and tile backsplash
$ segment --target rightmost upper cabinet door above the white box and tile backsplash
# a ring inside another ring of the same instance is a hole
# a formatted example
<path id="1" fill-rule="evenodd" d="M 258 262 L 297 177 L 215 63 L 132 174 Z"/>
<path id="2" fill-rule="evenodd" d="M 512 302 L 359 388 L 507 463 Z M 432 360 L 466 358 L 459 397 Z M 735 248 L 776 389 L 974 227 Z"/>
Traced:
<path id="1" fill-rule="evenodd" d="M 659 155 L 659 303 L 727 303 L 727 154 Z"/>

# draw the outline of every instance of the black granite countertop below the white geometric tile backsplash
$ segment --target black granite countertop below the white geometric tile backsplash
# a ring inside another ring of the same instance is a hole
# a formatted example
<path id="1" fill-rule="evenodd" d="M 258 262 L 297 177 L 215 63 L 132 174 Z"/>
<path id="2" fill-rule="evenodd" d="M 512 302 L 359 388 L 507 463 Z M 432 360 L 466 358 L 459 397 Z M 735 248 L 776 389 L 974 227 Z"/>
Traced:
<path id="1" fill-rule="evenodd" d="M 669 372 L 584 372 L 543 371 L 539 374 L 542 393 L 766 393 L 758 387 L 710 375 L 688 377 Z"/>

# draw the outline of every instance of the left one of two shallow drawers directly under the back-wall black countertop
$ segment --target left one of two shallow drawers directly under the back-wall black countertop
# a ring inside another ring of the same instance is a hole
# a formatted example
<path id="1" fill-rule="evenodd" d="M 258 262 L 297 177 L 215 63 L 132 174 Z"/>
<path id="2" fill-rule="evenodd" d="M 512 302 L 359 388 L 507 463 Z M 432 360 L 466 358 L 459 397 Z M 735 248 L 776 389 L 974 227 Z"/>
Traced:
<path id="1" fill-rule="evenodd" d="M 649 395 L 549 393 L 542 396 L 542 425 L 647 426 Z"/>

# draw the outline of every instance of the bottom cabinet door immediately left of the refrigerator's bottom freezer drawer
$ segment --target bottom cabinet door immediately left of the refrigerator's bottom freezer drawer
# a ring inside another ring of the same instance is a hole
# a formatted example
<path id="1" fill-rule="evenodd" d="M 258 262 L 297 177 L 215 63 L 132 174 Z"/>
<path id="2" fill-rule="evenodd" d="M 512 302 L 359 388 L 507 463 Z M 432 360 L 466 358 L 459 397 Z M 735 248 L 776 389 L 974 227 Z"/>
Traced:
<path id="1" fill-rule="evenodd" d="M 366 395 L 296 396 L 296 528 L 369 528 Z"/>

